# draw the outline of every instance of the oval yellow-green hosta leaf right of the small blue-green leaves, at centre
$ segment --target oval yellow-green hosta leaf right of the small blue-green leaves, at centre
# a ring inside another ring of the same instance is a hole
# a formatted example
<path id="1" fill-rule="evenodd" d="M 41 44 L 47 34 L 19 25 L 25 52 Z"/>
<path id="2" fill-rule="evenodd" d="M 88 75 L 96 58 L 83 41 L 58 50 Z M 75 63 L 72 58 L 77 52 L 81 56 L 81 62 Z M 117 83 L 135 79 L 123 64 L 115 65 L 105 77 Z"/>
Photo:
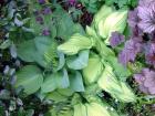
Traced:
<path id="1" fill-rule="evenodd" d="M 83 68 L 83 78 L 85 84 L 92 84 L 97 81 L 103 72 L 103 64 L 101 62 L 101 57 L 99 55 L 93 54 L 89 59 L 89 64 Z"/>

